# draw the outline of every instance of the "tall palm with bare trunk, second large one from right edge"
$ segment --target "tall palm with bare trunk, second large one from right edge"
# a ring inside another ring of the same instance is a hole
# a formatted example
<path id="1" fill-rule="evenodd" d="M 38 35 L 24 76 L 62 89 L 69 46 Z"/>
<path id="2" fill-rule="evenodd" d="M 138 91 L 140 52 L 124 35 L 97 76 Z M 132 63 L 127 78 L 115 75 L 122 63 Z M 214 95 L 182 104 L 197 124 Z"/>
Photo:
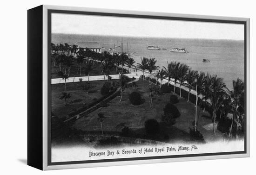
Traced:
<path id="1" fill-rule="evenodd" d="M 212 107 L 212 119 L 213 119 L 213 133 L 215 135 L 215 121 L 216 112 L 219 109 L 220 102 L 223 100 L 223 96 L 226 95 L 226 85 L 223 82 L 223 78 L 218 78 L 217 75 L 212 77 L 209 99 L 211 100 Z"/>

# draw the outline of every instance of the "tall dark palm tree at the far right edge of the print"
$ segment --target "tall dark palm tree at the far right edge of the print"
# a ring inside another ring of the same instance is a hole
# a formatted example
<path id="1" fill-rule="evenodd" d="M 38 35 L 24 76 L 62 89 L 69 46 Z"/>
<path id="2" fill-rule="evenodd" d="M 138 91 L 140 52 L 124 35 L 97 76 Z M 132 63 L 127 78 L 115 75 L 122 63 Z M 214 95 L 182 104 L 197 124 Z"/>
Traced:
<path id="1" fill-rule="evenodd" d="M 239 125 L 243 126 L 243 114 L 244 114 L 244 82 L 237 78 L 233 80 L 233 89 L 230 91 L 231 108 L 233 113 L 232 123 L 229 129 L 229 136 L 231 131 L 235 130 L 237 137 Z"/>

